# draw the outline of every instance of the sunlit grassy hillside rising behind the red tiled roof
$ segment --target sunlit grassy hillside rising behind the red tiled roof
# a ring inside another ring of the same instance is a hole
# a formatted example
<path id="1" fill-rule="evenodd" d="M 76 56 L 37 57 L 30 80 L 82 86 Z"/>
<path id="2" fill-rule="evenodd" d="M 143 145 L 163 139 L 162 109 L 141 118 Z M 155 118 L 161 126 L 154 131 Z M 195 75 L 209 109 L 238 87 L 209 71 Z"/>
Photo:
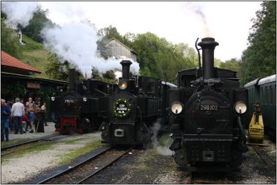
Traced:
<path id="1" fill-rule="evenodd" d="M 22 42 L 26 45 L 21 45 L 23 56 L 20 58 L 21 61 L 27 62 L 30 66 L 39 69 L 42 71 L 41 74 L 35 73 L 34 76 L 41 78 L 48 78 L 44 71 L 44 67 L 48 58 L 48 50 L 44 49 L 44 45 L 39 42 L 35 42 L 33 39 L 30 39 L 26 35 L 22 34 Z"/>

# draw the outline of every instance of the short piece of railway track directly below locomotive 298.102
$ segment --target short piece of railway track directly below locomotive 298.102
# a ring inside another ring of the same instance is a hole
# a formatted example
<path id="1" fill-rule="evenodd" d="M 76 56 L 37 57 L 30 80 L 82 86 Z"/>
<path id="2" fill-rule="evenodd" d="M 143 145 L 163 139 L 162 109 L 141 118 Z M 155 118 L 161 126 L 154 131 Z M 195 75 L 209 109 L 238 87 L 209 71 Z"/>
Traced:
<path id="1" fill-rule="evenodd" d="M 188 184 L 230 184 L 226 173 L 190 172 Z"/>

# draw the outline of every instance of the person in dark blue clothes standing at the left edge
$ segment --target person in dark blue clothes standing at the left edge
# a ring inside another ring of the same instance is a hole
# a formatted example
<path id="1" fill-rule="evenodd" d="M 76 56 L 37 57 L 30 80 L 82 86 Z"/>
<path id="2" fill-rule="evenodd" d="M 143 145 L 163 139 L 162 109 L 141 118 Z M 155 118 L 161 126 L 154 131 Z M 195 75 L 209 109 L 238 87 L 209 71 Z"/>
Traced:
<path id="1" fill-rule="evenodd" d="M 9 123 L 10 123 L 10 107 L 6 105 L 6 100 L 1 99 L 1 141 L 4 141 L 4 130 L 5 130 L 6 141 L 9 141 L 8 139 Z"/>

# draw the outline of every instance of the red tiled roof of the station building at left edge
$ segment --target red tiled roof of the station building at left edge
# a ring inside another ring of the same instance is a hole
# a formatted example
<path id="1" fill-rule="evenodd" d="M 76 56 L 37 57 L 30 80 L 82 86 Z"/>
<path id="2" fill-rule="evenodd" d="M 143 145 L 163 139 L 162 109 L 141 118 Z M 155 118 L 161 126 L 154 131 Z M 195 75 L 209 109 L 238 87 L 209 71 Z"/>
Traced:
<path id="1" fill-rule="evenodd" d="M 17 58 L 12 57 L 12 55 L 9 55 L 4 51 L 1 51 L 1 65 L 13 67 L 15 69 L 21 69 L 24 71 L 30 71 L 33 73 L 42 73 L 42 71 L 35 69 L 35 67 L 31 67 L 30 65 L 22 62 L 21 60 L 18 60 Z"/>

